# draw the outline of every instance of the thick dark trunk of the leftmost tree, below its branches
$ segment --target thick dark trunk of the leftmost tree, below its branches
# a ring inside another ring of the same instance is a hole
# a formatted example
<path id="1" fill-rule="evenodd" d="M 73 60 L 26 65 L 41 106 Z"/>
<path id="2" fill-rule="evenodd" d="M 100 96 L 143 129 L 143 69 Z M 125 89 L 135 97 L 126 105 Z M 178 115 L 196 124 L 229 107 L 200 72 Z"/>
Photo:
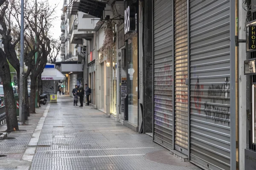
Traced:
<path id="1" fill-rule="evenodd" d="M 16 104 L 14 94 L 12 90 L 12 79 L 9 64 L 6 56 L 3 55 L 3 51 L 0 51 L 0 77 L 3 81 L 3 92 L 6 110 L 6 124 L 7 132 L 18 130 L 18 121 L 16 116 Z"/>

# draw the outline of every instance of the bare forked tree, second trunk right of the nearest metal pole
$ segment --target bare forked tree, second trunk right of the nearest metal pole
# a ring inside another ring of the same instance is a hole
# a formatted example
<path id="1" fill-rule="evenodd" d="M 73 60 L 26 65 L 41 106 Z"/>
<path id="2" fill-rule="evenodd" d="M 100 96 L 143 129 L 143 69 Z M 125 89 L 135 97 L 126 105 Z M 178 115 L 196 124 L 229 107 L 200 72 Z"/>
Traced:
<path id="1" fill-rule="evenodd" d="M 49 39 L 49 29 L 52 27 L 51 21 L 55 19 L 53 13 L 55 8 L 49 6 L 49 1 L 39 2 L 38 7 L 28 5 L 25 9 L 26 11 L 32 12 L 29 16 L 25 16 L 27 22 L 29 23 L 29 32 L 34 34 L 37 38 L 37 46 L 39 50 L 38 58 L 35 62 L 32 62 L 28 67 L 31 67 L 31 91 L 30 91 L 30 113 L 35 113 L 35 94 L 36 94 L 36 80 L 38 76 L 40 77 L 44 71 L 44 67 L 47 63 L 47 57 L 50 54 L 51 46 Z M 34 9 L 37 10 L 34 10 Z"/>

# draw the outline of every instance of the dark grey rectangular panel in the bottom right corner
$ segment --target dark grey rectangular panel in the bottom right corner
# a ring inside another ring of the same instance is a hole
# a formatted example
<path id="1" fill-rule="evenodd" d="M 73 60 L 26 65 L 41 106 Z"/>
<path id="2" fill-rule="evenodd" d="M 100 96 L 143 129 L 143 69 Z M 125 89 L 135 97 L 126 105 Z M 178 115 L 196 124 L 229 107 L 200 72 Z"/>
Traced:
<path id="1" fill-rule="evenodd" d="M 244 149 L 244 169 L 256 170 L 256 152 Z"/>

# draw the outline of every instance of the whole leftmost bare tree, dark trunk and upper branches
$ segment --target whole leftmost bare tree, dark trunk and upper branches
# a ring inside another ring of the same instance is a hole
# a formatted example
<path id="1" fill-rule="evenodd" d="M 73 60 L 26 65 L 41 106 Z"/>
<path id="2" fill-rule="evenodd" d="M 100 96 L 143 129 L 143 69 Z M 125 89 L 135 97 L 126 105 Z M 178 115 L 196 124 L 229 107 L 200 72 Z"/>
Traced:
<path id="1" fill-rule="evenodd" d="M 18 130 L 18 121 L 16 116 L 15 99 L 12 90 L 12 79 L 10 68 L 7 59 L 13 55 L 12 47 L 17 44 L 17 41 L 12 43 L 11 30 L 5 27 L 6 23 L 6 10 L 9 7 L 9 2 L 6 0 L 0 0 L 0 34 L 3 36 L 4 51 L 0 49 L 0 77 L 3 81 L 4 100 L 6 107 L 6 124 L 7 131 Z M 8 19 L 8 18 L 7 18 Z M 6 36 L 7 35 L 7 36 Z M 11 62 L 11 61 L 10 61 Z"/>

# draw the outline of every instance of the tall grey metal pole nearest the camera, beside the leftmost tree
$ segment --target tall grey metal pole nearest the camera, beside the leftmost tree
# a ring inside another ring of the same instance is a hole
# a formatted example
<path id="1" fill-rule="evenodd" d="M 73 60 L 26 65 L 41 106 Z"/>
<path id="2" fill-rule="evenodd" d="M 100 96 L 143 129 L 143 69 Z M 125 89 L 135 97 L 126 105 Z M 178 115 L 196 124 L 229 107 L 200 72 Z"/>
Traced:
<path id="1" fill-rule="evenodd" d="M 24 99 L 24 0 L 21 0 L 21 28 L 20 28 L 20 91 L 19 91 L 19 121 L 24 121 L 24 114 L 22 112 Z"/>

